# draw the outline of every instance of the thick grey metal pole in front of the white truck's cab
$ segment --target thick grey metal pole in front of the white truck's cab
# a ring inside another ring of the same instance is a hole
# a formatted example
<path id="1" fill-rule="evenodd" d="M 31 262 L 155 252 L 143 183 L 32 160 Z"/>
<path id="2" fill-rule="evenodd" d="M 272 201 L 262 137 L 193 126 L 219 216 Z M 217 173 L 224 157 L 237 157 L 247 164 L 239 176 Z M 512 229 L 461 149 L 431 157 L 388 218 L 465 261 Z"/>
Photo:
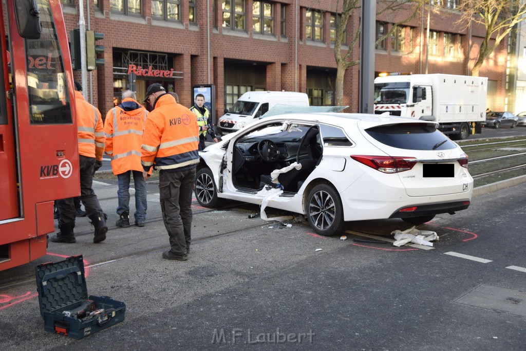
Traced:
<path id="1" fill-rule="evenodd" d="M 362 0 L 360 46 L 360 113 L 374 113 L 376 1 Z"/>

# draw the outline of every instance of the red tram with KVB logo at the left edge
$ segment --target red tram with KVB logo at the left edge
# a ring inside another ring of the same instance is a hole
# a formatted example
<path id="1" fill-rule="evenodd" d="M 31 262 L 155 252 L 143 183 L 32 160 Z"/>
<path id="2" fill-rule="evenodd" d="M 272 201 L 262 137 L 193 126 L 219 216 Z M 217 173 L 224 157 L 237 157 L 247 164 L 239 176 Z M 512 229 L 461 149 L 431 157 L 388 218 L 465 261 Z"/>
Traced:
<path id="1" fill-rule="evenodd" d="M 0 270 L 46 254 L 53 200 L 77 196 L 73 73 L 60 0 L 0 7 Z"/>

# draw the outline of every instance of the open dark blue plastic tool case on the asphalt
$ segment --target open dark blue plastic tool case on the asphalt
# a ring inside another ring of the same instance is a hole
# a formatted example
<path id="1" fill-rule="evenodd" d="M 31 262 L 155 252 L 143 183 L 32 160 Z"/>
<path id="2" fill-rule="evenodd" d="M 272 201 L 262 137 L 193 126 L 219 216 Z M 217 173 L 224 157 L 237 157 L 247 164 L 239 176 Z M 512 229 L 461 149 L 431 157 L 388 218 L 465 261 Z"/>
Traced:
<path id="1" fill-rule="evenodd" d="M 44 330 L 75 339 L 96 333 L 124 320 L 126 304 L 108 296 L 88 296 L 82 255 L 35 267 L 40 313 Z M 96 315 L 68 317 L 64 311 L 75 309 L 86 299 L 95 302 Z M 103 311 L 104 309 L 104 311 Z"/>

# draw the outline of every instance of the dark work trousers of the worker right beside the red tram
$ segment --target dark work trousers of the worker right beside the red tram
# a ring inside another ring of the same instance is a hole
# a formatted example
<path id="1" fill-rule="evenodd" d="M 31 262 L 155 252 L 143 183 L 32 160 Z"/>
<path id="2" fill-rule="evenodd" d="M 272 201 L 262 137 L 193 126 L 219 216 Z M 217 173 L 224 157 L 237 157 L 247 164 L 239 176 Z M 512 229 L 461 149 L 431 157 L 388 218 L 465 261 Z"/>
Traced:
<path id="1" fill-rule="evenodd" d="M 102 208 L 98 202 L 97 195 L 93 191 L 93 171 L 95 169 L 95 157 L 79 155 L 80 171 L 80 201 L 86 209 L 90 219 L 102 215 Z M 75 226 L 75 204 L 73 197 L 57 200 L 58 212 L 60 213 L 59 225 L 73 224 Z M 100 214 L 99 214 L 100 212 Z"/>

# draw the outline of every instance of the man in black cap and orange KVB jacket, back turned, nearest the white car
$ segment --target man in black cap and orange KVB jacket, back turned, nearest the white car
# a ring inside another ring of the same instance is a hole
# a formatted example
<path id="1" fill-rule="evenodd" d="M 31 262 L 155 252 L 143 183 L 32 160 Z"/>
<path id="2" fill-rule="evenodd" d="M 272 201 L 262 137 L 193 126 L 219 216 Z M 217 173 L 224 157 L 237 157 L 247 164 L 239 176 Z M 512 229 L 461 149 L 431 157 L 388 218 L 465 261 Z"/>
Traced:
<path id="1" fill-rule="evenodd" d="M 199 163 L 197 117 L 177 104 L 161 84 L 152 84 L 144 101 L 153 106 L 143 133 L 143 177 L 159 169 L 159 198 L 170 249 L 165 259 L 184 261 L 190 253 L 192 190 Z"/>

